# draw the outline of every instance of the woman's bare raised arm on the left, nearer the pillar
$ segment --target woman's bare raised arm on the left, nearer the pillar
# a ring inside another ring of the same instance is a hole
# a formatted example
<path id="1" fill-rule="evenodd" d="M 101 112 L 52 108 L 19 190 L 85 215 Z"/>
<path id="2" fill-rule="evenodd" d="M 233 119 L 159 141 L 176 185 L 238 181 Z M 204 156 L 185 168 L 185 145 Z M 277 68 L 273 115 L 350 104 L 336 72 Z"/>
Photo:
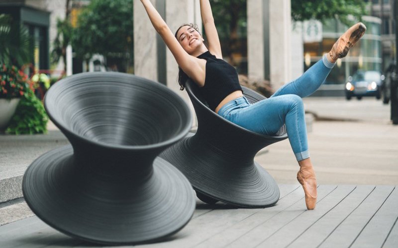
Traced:
<path id="1" fill-rule="evenodd" d="M 150 0 L 141 0 L 141 2 L 145 7 L 153 27 L 160 34 L 163 41 L 166 43 L 166 46 L 170 49 L 178 65 L 190 78 L 194 80 L 198 79 L 204 74 L 203 69 L 201 68 L 202 66 L 199 66 L 199 59 L 189 55 L 183 49 Z"/>

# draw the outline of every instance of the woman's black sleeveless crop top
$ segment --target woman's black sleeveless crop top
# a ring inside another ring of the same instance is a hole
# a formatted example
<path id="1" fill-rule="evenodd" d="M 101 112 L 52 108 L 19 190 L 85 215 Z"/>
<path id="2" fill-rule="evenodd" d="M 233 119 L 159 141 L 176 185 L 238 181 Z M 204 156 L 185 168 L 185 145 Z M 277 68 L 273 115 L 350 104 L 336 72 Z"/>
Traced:
<path id="1" fill-rule="evenodd" d="M 232 65 L 217 59 L 209 51 L 199 55 L 197 58 L 206 60 L 204 86 L 199 89 L 210 109 L 214 111 L 226 96 L 236 90 L 242 90 L 239 84 L 238 72 Z"/>

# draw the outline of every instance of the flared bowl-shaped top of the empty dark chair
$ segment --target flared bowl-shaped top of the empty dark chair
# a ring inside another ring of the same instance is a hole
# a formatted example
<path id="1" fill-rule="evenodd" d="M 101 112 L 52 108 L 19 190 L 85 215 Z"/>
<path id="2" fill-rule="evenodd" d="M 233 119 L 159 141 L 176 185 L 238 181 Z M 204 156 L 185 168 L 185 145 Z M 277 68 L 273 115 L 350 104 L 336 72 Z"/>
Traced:
<path id="1" fill-rule="evenodd" d="M 88 72 L 53 85 L 44 100 L 64 132 L 101 146 L 145 149 L 167 146 L 191 128 L 190 110 L 172 90 L 118 72 Z"/>

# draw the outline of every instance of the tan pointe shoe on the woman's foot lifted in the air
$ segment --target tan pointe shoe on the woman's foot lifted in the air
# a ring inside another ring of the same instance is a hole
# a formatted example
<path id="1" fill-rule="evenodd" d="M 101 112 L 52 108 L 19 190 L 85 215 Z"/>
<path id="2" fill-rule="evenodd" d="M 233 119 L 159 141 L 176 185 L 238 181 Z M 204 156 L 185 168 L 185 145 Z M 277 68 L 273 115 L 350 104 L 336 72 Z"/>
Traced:
<path id="1" fill-rule="evenodd" d="M 358 22 L 350 27 L 340 38 L 334 43 L 329 52 L 330 58 L 337 60 L 347 56 L 348 51 L 354 44 L 361 39 L 366 31 L 366 26 L 362 22 Z"/>

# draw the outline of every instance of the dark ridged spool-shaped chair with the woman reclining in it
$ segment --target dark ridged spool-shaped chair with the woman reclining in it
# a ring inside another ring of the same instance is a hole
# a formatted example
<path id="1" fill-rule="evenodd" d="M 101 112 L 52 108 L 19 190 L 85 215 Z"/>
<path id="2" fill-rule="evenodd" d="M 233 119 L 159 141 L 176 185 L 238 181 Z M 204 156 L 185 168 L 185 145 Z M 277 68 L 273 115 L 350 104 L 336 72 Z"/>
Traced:
<path id="1" fill-rule="evenodd" d="M 265 99 L 242 88 L 251 103 Z M 275 136 L 249 131 L 211 111 L 193 81 L 187 81 L 186 89 L 198 117 L 198 130 L 160 157 L 184 173 L 204 202 L 222 201 L 248 208 L 274 205 L 279 200 L 279 187 L 254 156 L 262 148 L 286 139 L 285 125 Z"/>

